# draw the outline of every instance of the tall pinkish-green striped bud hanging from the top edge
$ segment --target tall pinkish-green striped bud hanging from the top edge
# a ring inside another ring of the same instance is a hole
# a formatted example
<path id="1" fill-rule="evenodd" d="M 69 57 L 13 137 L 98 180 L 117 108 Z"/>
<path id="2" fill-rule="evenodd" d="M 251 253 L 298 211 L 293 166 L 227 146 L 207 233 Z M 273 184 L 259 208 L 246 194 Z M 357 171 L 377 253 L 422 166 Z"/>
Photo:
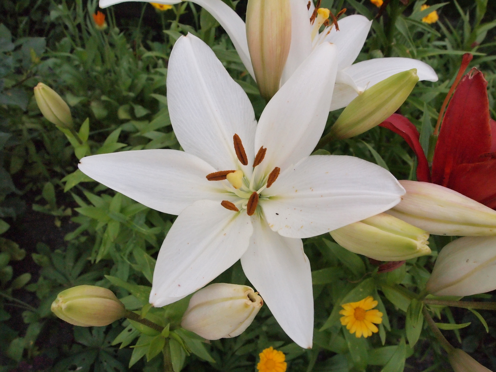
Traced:
<path id="1" fill-rule="evenodd" d="M 256 83 L 268 101 L 279 89 L 291 45 L 290 0 L 248 0 L 246 21 Z"/>

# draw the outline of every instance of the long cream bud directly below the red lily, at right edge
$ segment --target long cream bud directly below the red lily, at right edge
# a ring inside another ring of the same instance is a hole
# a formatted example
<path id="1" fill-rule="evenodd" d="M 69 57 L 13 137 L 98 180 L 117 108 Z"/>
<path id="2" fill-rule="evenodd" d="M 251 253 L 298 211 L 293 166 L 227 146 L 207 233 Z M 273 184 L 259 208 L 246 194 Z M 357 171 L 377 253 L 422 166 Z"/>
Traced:
<path id="1" fill-rule="evenodd" d="M 496 235 L 496 211 L 447 187 L 417 181 L 399 181 L 406 190 L 387 211 L 435 235 Z"/>

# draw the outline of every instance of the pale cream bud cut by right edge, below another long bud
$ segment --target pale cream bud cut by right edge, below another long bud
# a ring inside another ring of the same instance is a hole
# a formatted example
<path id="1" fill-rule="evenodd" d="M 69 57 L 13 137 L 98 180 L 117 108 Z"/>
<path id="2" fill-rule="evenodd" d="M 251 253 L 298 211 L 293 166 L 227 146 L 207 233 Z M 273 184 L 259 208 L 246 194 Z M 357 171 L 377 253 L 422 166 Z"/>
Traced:
<path id="1" fill-rule="evenodd" d="M 496 289 L 496 237 L 463 237 L 441 249 L 427 290 L 435 296 L 470 296 Z"/>

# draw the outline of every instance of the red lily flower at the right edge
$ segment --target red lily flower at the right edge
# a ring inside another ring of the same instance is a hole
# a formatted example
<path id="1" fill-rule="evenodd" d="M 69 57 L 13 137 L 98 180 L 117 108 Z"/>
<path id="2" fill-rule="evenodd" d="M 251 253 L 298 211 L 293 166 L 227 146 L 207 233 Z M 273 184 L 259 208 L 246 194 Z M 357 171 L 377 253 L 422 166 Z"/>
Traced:
<path id="1" fill-rule="evenodd" d="M 432 181 L 415 125 L 398 114 L 380 125 L 400 134 L 414 150 L 418 181 L 451 188 L 496 208 L 496 122 L 490 118 L 486 86 L 482 72 L 472 68 L 454 90 L 434 150 Z"/>

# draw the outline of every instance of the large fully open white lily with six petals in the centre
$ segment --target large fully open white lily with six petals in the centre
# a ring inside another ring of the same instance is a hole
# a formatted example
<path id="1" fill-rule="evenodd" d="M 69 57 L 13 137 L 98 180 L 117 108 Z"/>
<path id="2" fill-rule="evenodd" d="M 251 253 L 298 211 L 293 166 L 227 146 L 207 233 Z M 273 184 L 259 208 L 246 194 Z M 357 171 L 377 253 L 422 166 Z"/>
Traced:
<path id="1" fill-rule="evenodd" d="M 315 73 L 315 71 L 321 71 Z M 151 208 L 178 214 L 160 249 L 150 303 L 198 290 L 241 258 L 286 333 L 310 348 L 310 263 L 301 238 L 383 212 L 403 187 L 350 156 L 309 156 L 327 119 L 336 48 L 320 45 L 274 95 L 258 125 L 248 96 L 200 39 L 171 53 L 167 97 L 183 151 L 81 159 L 85 174 Z"/>

